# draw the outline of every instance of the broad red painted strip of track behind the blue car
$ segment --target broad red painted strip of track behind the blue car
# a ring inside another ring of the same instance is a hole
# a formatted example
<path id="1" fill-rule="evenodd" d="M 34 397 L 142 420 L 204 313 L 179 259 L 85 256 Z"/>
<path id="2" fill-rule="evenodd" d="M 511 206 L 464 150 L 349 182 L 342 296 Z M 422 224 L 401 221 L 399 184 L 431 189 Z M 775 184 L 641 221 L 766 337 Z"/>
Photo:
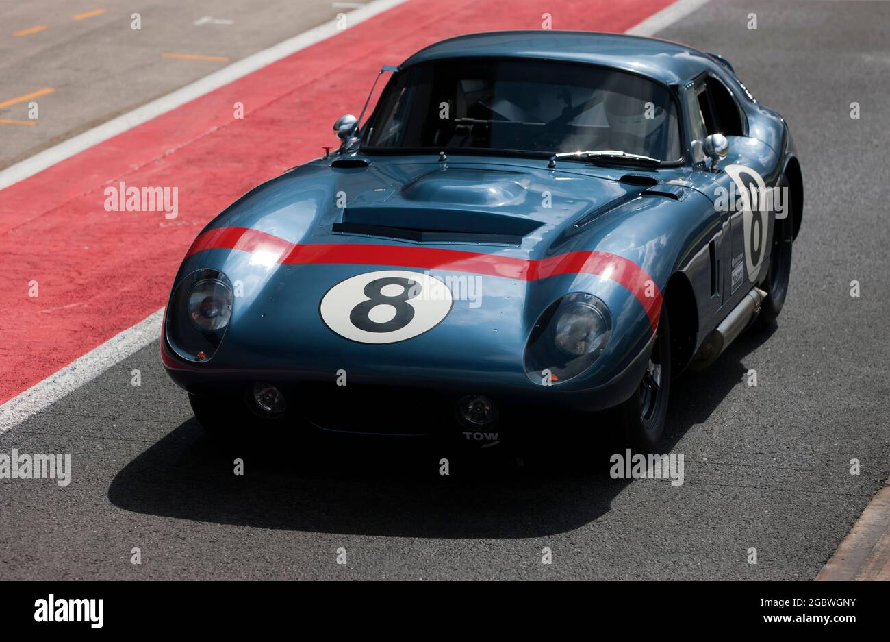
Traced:
<path id="1" fill-rule="evenodd" d="M 670 2 L 409 0 L 0 191 L 0 402 L 164 305 L 198 230 L 319 155 L 381 65 L 462 33 L 540 28 L 544 11 L 554 28 L 624 31 Z M 121 180 L 178 187 L 179 216 L 107 212 L 102 191 Z"/>

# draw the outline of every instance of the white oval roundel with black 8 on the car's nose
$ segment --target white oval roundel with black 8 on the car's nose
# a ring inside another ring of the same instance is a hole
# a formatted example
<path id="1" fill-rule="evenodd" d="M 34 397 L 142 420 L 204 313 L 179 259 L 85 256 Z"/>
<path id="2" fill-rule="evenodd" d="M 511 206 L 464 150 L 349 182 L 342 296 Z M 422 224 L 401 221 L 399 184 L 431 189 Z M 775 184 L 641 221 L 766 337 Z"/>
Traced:
<path id="1" fill-rule="evenodd" d="M 321 299 L 321 319 L 341 337 L 391 344 L 433 329 L 451 311 L 451 290 L 423 272 L 381 270 L 340 281 Z"/>

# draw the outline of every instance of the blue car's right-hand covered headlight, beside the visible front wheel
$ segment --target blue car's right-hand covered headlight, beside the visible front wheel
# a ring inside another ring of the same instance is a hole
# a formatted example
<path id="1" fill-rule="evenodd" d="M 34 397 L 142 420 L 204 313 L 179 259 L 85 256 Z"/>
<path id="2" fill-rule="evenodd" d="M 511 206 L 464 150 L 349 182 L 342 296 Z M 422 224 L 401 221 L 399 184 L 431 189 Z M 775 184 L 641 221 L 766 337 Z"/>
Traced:
<path id="1" fill-rule="evenodd" d="M 611 336 L 609 308 L 586 292 L 573 292 L 541 314 L 525 346 L 525 372 L 542 386 L 565 383 L 599 358 Z"/>

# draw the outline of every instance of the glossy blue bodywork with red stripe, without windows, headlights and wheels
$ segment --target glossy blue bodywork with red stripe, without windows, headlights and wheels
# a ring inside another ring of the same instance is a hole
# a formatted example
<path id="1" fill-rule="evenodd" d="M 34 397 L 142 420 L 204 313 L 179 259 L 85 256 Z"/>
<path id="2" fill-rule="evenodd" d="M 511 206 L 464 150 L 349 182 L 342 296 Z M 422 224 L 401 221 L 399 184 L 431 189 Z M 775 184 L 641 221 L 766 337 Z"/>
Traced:
<path id="1" fill-rule="evenodd" d="M 740 215 L 715 207 L 717 192 L 729 189 L 732 177 L 708 171 L 709 161 L 690 140 L 686 93 L 707 77 L 731 94 L 743 127 L 727 135 L 730 150 L 720 166 L 750 167 L 767 187 L 784 177 L 795 196 L 789 233 L 797 235 L 803 187 L 788 126 L 756 102 L 718 56 L 642 37 L 514 31 L 432 45 L 396 73 L 429 61 L 482 58 L 595 65 L 666 85 L 680 106 L 683 161 L 641 168 L 560 159 L 548 167 L 546 158 L 449 153 L 442 160 L 357 149 L 295 167 L 214 218 L 182 262 L 174 291 L 206 269 L 223 272 L 241 291 L 210 358 L 196 361 L 174 348 L 165 331 L 162 357 L 177 384 L 198 395 L 241 394 L 244 386 L 264 381 L 299 394 L 304 383 L 334 387 L 345 373 L 348 386 L 601 410 L 639 385 L 665 298 L 676 307 L 672 358 L 682 369 L 748 290 L 767 278 L 764 269 L 753 278 L 744 266 L 741 277 L 739 268 L 732 270 L 744 244 Z M 345 207 L 338 202 L 343 193 Z M 519 242 L 337 232 L 336 223 L 346 219 L 381 229 L 499 230 Z M 761 265 L 769 264 L 773 223 L 771 213 Z M 595 253 L 604 263 L 593 272 L 573 271 L 566 257 L 586 256 L 578 253 Z M 473 265 L 484 269 L 475 272 Z M 472 276 L 481 284 L 481 305 L 455 300 L 444 320 L 400 342 L 361 343 L 332 331 L 320 315 L 328 291 L 353 276 L 385 270 Z M 526 349 L 536 322 L 573 292 L 598 297 L 611 313 L 603 354 L 566 381 L 530 376 Z M 165 328 L 183 313 L 171 297 Z"/>

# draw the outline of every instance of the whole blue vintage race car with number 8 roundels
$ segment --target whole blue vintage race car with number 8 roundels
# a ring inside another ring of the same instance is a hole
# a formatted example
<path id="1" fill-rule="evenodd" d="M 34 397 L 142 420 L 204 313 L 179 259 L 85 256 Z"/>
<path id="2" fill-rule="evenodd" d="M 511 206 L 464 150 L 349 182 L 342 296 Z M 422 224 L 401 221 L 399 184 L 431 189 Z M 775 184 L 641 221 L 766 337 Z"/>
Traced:
<path id="1" fill-rule="evenodd" d="M 569 423 L 653 450 L 671 379 L 781 312 L 785 121 L 722 57 L 643 37 L 477 34 L 389 72 L 336 152 L 189 249 L 161 354 L 198 421 L 494 443 L 608 410 Z"/>

